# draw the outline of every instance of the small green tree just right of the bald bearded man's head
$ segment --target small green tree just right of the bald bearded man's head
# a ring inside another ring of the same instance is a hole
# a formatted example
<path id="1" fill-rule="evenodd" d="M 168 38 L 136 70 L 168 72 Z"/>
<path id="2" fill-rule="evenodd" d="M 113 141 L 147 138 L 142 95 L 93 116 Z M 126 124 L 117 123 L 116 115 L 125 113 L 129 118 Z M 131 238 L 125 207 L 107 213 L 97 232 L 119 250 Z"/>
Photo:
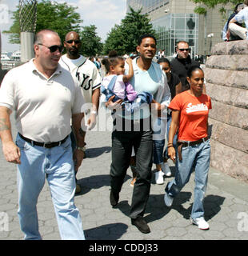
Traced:
<path id="1" fill-rule="evenodd" d="M 96 54 L 102 54 L 103 44 L 101 38 L 97 35 L 97 27 L 94 25 L 83 26 L 80 32 L 80 38 L 82 39 L 81 53 L 85 56 L 95 56 Z"/>

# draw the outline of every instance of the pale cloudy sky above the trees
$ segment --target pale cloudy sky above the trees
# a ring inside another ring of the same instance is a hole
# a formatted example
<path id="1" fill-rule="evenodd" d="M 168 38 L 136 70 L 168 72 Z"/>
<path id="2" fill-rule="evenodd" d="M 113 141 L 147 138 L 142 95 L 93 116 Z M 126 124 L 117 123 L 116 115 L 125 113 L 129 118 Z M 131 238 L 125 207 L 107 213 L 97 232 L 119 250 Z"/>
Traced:
<path id="1" fill-rule="evenodd" d="M 78 7 L 76 12 L 81 15 L 82 26 L 95 25 L 98 36 L 105 41 L 106 35 L 114 24 L 119 24 L 126 15 L 126 0 L 57 0 L 58 3 L 66 2 Z M 14 11 L 18 6 L 18 0 L 0 0 L 0 30 L 9 30 L 13 20 L 12 14 L 6 11 Z M 2 34 L 2 52 L 20 50 L 19 45 L 10 44 L 8 36 Z"/>

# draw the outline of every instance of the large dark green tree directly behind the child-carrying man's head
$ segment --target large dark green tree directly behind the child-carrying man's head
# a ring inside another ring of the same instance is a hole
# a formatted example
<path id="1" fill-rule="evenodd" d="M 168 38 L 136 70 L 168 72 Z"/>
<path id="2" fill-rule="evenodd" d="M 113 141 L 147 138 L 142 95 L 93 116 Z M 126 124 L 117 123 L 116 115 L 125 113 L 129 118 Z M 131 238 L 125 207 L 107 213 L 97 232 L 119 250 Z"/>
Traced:
<path id="1" fill-rule="evenodd" d="M 122 19 L 120 25 L 115 25 L 107 35 L 104 53 L 117 50 L 118 54 L 129 54 L 136 50 L 138 38 L 142 34 L 154 34 L 148 14 L 141 14 L 142 9 L 135 11 L 130 7 L 130 13 Z"/>

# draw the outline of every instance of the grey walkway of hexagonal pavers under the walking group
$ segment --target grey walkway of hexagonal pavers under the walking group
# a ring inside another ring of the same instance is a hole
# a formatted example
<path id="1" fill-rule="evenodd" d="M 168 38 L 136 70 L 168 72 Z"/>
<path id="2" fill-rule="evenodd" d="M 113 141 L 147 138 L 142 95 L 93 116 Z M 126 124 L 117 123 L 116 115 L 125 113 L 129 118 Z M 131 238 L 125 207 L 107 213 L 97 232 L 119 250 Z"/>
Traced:
<path id="1" fill-rule="evenodd" d="M 165 185 L 156 185 L 153 178 L 145 214 L 151 233 L 140 233 L 135 226 L 130 225 L 128 217 L 133 190 L 130 186 L 130 169 L 127 171 L 118 207 L 113 209 L 110 206 L 110 135 L 110 132 L 93 131 L 86 135 L 87 158 L 84 159 L 77 176 L 82 185 L 82 194 L 75 197 L 75 203 L 82 215 L 88 240 L 248 239 L 248 184 L 217 170 L 210 170 L 204 201 L 210 230 L 198 230 L 197 226 L 190 223 L 194 196 L 192 176 L 178 198 L 174 199 L 171 208 L 167 208 L 163 202 Z M 19 240 L 23 238 L 23 234 L 17 216 L 15 166 L 5 161 L 2 153 L 0 166 L 0 239 Z M 174 174 L 173 165 L 171 169 Z M 166 178 L 165 184 L 172 178 Z M 6 217 L 8 226 L 2 225 Z M 38 198 L 38 218 L 44 240 L 60 239 L 47 183 Z"/>

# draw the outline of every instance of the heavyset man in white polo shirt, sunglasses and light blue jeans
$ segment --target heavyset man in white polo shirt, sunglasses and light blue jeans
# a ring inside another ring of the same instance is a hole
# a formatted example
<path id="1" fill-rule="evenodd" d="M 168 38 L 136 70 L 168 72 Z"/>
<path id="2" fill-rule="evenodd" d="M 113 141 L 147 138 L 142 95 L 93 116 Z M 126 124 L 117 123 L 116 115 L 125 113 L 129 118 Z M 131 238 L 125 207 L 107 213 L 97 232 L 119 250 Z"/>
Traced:
<path id="1" fill-rule="evenodd" d="M 35 58 L 10 70 L 0 90 L 0 137 L 8 162 L 18 167 L 18 218 L 25 239 L 41 239 L 36 204 L 45 179 L 50 186 L 62 239 L 85 239 L 74 205 L 74 168 L 81 165 L 83 97 L 70 72 L 59 64 L 58 34 L 42 30 L 34 42 Z M 15 111 L 18 136 L 14 143 L 10 114 Z M 74 166 L 70 119 L 77 147 Z"/>

